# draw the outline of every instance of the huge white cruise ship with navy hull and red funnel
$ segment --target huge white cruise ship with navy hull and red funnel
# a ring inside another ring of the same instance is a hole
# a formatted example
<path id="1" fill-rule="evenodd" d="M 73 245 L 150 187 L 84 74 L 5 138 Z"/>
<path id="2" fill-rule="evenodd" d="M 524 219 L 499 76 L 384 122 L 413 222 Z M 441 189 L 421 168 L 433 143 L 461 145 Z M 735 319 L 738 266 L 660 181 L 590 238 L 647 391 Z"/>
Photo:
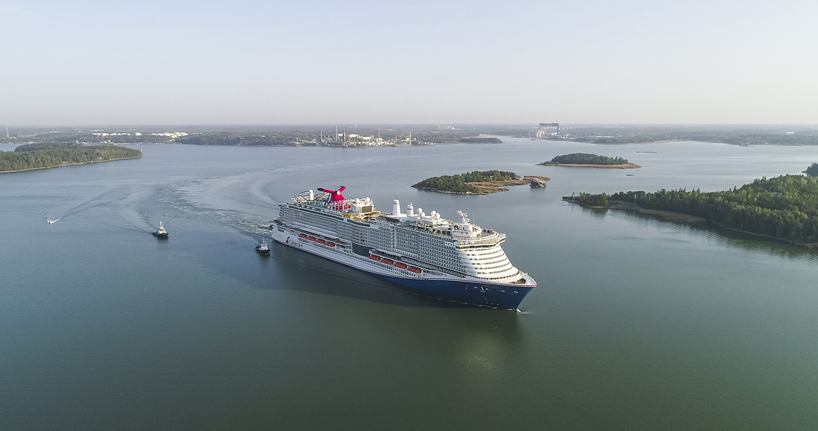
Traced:
<path id="1" fill-rule="evenodd" d="M 339 189 L 308 190 L 279 204 L 272 238 L 425 295 L 496 309 L 517 309 L 537 282 L 516 269 L 501 244 L 506 234 L 426 214 L 398 199 L 392 212 Z"/>

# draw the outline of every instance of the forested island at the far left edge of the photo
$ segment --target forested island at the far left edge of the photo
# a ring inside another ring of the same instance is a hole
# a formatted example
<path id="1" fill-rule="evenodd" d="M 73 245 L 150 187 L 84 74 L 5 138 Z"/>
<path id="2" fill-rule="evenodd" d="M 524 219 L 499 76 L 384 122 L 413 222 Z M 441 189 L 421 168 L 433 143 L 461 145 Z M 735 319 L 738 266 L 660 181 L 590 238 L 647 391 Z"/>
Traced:
<path id="1" fill-rule="evenodd" d="M 14 151 L 0 151 L 0 173 L 141 157 L 138 149 L 116 145 L 25 144 Z"/>

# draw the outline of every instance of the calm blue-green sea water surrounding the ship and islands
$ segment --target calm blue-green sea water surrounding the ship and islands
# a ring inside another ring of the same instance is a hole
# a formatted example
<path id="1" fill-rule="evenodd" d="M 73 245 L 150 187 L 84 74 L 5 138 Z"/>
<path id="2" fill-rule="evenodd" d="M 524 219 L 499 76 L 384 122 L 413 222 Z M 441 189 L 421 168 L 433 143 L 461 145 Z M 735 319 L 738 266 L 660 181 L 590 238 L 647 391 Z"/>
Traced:
<path id="1" fill-rule="evenodd" d="M 502 139 L 140 145 L 0 176 L 0 429 L 816 429 L 818 253 L 560 197 L 727 189 L 818 148 Z M 573 152 L 643 168 L 534 165 Z M 410 187 L 488 169 L 552 180 Z M 277 202 L 341 184 L 381 209 L 468 212 L 539 287 L 522 313 L 475 309 L 279 244 L 254 253 Z"/>

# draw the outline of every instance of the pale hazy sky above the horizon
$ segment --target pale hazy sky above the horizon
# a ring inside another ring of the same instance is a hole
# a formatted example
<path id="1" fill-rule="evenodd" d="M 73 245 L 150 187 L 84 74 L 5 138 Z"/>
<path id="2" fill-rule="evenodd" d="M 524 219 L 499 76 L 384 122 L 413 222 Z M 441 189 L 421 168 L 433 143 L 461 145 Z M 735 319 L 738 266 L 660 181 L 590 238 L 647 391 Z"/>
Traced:
<path id="1" fill-rule="evenodd" d="M 818 2 L 0 0 L 0 127 L 818 123 Z"/>

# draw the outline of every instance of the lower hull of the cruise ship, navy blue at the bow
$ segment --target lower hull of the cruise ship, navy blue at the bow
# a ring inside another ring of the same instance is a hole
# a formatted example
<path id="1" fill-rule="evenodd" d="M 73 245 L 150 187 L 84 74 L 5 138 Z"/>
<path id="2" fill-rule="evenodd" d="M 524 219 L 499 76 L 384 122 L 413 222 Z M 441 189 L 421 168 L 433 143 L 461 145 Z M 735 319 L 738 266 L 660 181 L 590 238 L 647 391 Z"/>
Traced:
<path id="1" fill-rule="evenodd" d="M 420 277 L 401 277 L 398 274 L 379 273 L 370 269 L 362 268 L 355 262 L 345 261 L 344 256 L 334 256 L 335 253 L 321 252 L 317 249 L 318 246 L 314 243 L 304 244 L 297 240 L 296 234 L 272 235 L 272 238 L 285 246 L 289 246 L 301 251 L 307 251 L 312 255 L 323 257 L 327 260 L 332 260 L 336 263 L 343 264 L 353 269 L 357 269 L 364 273 L 369 273 L 378 278 L 383 278 L 389 282 L 394 282 L 403 287 L 408 287 L 412 291 L 420 292 L 424 295 L 433 296 L 442 300 L 450 300 L 460 302 L 463 304 L 477 305 L 481 307 L 488 307 L 492 309 L 510 309 L 515 310 L 519 304 L 523 302 L 525 296 L 531 291 L 533 286 L 525 285 L 508 285 L 508 284 L 491 284 L 490 282 L 478 282 L 470 280 L 455 280 L 443 278 L 420 278 Z M 313 250 L 316 249 L 316 250 Z"/>

